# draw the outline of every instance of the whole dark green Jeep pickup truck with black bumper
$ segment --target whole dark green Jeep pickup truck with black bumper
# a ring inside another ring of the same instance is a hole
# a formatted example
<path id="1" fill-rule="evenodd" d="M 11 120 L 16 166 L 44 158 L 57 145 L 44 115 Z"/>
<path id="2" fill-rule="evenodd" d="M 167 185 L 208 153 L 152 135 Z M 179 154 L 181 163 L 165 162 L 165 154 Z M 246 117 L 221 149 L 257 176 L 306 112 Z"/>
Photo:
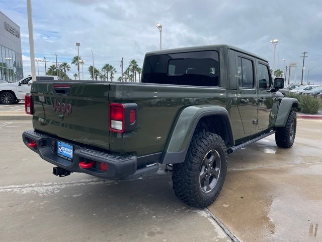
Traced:
<path id="1" fill-rule="evenodd" d="M 293 145 L 298 101 L 283 86 L 264 58 L 233 46 L 149 52 L 140 83 L 34 82 L 25 98 L 34 130 L 23 142 L 59 176 L 128 179 L 172 165 L 178 198 L 206 207 L 227 154 L 272 134 Z"/>

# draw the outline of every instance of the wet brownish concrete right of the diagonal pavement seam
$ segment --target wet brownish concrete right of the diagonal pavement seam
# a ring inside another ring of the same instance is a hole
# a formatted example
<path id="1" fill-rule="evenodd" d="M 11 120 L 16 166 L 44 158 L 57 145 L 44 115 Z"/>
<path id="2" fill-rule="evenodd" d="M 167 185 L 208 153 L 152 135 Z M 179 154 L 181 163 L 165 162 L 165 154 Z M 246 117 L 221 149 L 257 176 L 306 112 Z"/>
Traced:
<path id="1" fill-rule="evenodd" d="M 322 241 L 321 129 L 321 121 L 298 119 L 291 149 L 271 136 L 229 155 L 209 210 L 240 240 Z"/>

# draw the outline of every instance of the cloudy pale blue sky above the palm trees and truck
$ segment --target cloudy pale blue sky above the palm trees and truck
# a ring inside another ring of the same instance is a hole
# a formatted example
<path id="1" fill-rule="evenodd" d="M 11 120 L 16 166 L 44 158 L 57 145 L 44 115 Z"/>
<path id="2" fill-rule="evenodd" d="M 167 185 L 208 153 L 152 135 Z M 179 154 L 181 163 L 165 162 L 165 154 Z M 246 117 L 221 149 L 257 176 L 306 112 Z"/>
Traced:
<path id="1" fill-rule="evenodd" d="M 0 0 L 0 10 L 20 26 L 24 76 L 30 71 L 27 2 Z M 278 39 L 275 69 L 297 63 L 291 69 L 290 82 L 301 81 L 301 52 L 305 58 L 304 83 L 322 83 L 322 1 L 237 1 L 237 0 L 32 0 L 35 56 L 46 56 L 50 63 L 70 64 L 77 55 L 76 42 L 81 43 L 79 55 L 85 59 L 84 79 L 88 67 L 101 69 L 113 65 L 116 78 L 120 61 L 124 69 L 134 58 L 142 67 L 144 54 L 159 48 L 159 32 L 163 25 L 163 49 L 230 44 L 268 59 L 273 68 L 274 46 Z M 308 70 L 310 70 L 308 75 Z M 36 65 L 37 71 L 37 65 Z M 39 63 L 39 74 L 45 72 Z M 70 78 L 77 73 L 71 66 Z M 288 74 L 288 73 L 287 73 Z M 82 73 L 81 73 L 82 77 Z"/>

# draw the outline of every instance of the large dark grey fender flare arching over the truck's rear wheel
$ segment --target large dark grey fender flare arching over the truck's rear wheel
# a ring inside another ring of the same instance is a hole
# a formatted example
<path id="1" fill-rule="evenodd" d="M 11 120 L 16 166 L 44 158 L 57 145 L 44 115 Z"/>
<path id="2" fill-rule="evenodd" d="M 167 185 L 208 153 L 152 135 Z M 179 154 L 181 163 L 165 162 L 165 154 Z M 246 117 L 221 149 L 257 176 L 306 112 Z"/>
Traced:
<path id="1" fill-rule="evenodd" d="M 224 118 L 228 129 L 228 144 L 233 146 L 234 139 L 228 111 L 219 105 L 193 105 L 184 108 L 177 115 L 160 163 L 174 164 L 184 162 L 199 120 L 202 117 L 211 115 L 220 115 Z"/>

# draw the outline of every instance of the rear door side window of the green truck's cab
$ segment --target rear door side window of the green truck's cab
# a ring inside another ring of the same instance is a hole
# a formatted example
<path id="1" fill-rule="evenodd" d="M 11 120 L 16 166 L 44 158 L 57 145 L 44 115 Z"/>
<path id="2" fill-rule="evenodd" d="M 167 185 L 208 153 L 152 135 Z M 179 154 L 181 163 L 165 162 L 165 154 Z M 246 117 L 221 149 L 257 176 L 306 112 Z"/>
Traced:
<path id="1" fill-rule="evenodd" d="M 238 85 L 241 88 L 254 87 L 254 68 L 250 59 L 238 57 L 237 61 L 237 77 Z"/>

